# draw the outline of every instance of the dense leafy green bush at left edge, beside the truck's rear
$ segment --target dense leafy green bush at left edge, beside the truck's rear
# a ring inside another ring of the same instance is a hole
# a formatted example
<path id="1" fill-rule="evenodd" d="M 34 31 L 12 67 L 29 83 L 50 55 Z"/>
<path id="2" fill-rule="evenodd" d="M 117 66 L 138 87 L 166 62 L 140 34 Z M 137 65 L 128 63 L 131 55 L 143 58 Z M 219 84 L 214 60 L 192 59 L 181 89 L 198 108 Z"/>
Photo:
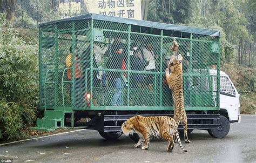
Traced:
<path id="1" fill-rule="evenodd" d="M 4 23 L 3 23 L 4 24 Z M 26 43 L 11 28 L 2 28 L 0 44 L 0 138 L 25 137 L 36 119 L 37 45 Z"/>

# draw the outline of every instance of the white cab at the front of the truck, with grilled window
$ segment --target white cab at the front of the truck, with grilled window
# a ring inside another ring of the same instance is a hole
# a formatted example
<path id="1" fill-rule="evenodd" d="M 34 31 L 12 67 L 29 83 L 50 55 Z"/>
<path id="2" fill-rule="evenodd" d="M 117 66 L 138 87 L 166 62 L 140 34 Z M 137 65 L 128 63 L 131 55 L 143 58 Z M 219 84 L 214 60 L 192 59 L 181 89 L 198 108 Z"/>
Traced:
<path id="1" fill-rule="evenodd" d="M 241 122 L 239 97 L 230 77 L 220 71 L 220 111 L 229 118 L 230 123 Z"/>

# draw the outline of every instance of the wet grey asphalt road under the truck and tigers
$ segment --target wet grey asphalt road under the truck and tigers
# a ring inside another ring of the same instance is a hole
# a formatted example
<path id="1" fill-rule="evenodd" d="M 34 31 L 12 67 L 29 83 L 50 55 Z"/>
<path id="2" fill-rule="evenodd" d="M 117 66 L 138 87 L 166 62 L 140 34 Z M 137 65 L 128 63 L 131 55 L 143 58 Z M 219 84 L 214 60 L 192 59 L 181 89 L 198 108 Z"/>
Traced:
<path id="1" fill-rule="evenodd" d="M 107 141 L 97 131 L 83 130 L 0 146 L 0 159 L 15 162 L 256 162 L 256 116 L 242 116 L 231 124 L 223 139 L 194 130 L 190 144 L 175 144 L 166 152 L 167 141 L 153 139 L 149 150 L 134 148 L 129 137 Z"/>

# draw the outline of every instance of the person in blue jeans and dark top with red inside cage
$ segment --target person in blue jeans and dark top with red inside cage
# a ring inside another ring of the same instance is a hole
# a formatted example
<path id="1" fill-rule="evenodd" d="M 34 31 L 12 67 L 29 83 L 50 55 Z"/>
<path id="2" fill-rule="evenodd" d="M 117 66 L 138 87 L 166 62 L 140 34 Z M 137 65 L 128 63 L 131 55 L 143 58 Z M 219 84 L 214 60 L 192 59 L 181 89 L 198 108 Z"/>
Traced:
<path id="1" fill-rule="evenodd" d="M 126 78 L 126 74 L 117 72 L 114 70 L 124 70 L 126 63 L 125 44 L 115 42 L 111 46 L 111 55 L 109 54 L 109 61 L 107 62 L 107 68 L 113 69 L 109 72 L 109 81 L 114 87 L 114 95 L 112 97 L 112 106 L 121 105 L 122 94 L 122 79 Z"/>

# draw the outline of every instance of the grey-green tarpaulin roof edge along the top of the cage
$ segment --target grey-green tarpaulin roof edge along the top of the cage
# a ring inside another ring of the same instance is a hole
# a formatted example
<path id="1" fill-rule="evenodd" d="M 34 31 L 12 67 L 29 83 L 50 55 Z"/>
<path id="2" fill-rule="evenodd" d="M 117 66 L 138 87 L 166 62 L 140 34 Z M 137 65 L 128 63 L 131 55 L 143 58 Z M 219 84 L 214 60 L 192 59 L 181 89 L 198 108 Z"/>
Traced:
<path id="1" fill-rule="evenodd" d="M 195 33 L 195 34 L 200 34 L 200 35 L 220 37 L 220 31 L 217 31 L 217 30 L 209 30 L 209 29 L 205 29 L 205 28 L 196 28 L 196 27 L 191 27 L 191 26 L 173 25 L 173 24 L 165 24 L 165 23 L 157 23 L 157 22 L 149 22 L 149 21 L 139 21 L 136 19 L 100 15 L 100 14 L 96 14 L 96 13 L 86 13 L 85 15 L 79 15 L 79 16 L 75 16 L 75 17 L 59 19 L 57 21 L 40 24 L 39 27 L 50 25 L 50 24 L 55 24 L 55 23 L 60 23 L 60 22 L 77 21 L 77 20 L 83 20 L 83 19 L 94 19 L 94 20 L 100 20 L 100 21 L 117 22 L 117 23 L 145 26 L 145 27 L 149 27 L 149 28 L 156 28 L 156 29 L 163 29 L 163 30 L 170 30 L 170 31 L 179 31 L 179 32 L 187 32 L 187 33 Z"/>

